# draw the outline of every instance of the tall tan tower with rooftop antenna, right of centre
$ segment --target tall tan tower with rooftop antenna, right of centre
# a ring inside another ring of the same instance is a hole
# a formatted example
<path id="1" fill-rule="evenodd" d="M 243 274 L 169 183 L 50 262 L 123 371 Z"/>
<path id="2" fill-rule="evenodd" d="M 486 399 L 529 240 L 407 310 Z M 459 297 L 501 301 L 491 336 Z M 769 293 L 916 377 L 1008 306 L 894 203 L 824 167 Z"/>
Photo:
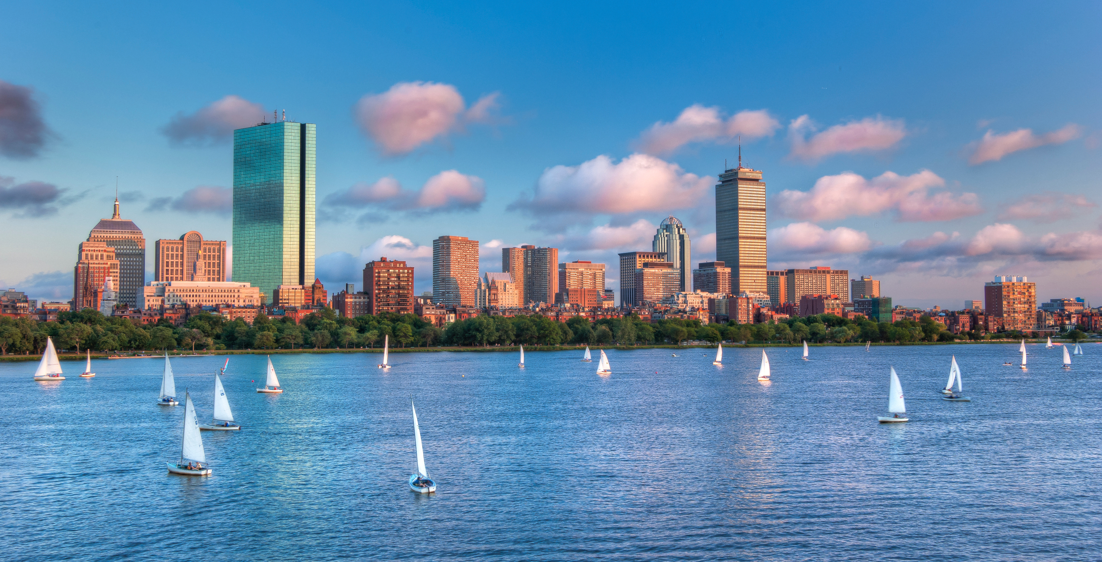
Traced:
<path id="1" fill-rule="evenodd" d="M 731 268 L 731 291 L 766 292 L 765 182 L 761 171 L 738 166 L 715 185 L 715 259 Z"/>

